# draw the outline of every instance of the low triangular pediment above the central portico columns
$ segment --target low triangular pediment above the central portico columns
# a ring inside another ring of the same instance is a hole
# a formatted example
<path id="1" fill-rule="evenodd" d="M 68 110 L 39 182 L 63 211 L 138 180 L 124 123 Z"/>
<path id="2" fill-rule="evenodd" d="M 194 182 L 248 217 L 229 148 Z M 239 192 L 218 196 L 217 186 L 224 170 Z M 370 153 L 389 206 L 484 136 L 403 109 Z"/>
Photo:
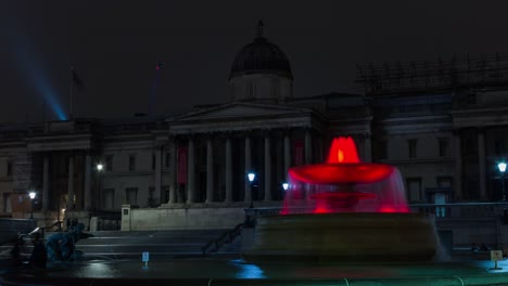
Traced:
<path id="1" fill-rule="evenodd" d="M 245 117 L 274 117 L 295 113 L 308 113 L 308 108 L 297 108 L 285 105 L 231 103 L 201 109 L 177 116 L 168 121 L 217 120 Z"/>

